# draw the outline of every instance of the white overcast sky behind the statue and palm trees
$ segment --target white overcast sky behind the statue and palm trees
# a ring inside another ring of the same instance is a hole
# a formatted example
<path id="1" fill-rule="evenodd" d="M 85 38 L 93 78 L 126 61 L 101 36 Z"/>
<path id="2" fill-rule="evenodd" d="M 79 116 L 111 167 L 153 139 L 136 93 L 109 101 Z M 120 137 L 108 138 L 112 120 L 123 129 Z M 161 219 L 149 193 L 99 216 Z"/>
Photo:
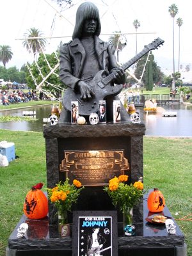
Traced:
<path id="1" fill-rule="evenodd" d="M 60 13 L 60 7 L 53 0 L 1 0 L 1 27 L 0 45 L 10 45 L 13 58 L 7 67 L 14 65 L 22 67 L 26 61 L 32 58 L 22 46 L 24 33 L 30 28 L 39 29 L 44 36 L 69 36 L 63 38 L 48 39 L 46 52 L 56 51 L 62 42 L 71 40 L 74 29 L 76 10 L 84 0 L 72 0 L 74 6 Z M 120 53 L 120 62 L 126 62 L 136 54 L 136 39 L 133 21 L 140 21 L 138 29 L 138 52 L 144 45 L 148 45 L 155 38 L 162 38 L 165 42 L 153 54 L 157 65 L 162 70 L 173 68 L 173 30 L 172 17 L 168 12 L 171 4 L 176 4 L 179 12 L 175 16 L 175 71 L 178 70 L 179 52 L 179 26 L 176 20 L 181 18 L 183 24 L 180 27 L 180 64 L 190 65 L 192 63 L 191 47 L 191 7 L 192 2 L 188 0 L 95 0 L 92 1 L 99 8 L 102 25 L 101 34 L 111 34 L 113 31 L 121 30 L 122 33 L 133 33 L 126 35 L 127 46 Z M 58 12 L 57 12 L 58 11 Z M 100 36 L 108 40 L 109 36 Z M 3 65 L 0 63 L 0 65 Z"/>

